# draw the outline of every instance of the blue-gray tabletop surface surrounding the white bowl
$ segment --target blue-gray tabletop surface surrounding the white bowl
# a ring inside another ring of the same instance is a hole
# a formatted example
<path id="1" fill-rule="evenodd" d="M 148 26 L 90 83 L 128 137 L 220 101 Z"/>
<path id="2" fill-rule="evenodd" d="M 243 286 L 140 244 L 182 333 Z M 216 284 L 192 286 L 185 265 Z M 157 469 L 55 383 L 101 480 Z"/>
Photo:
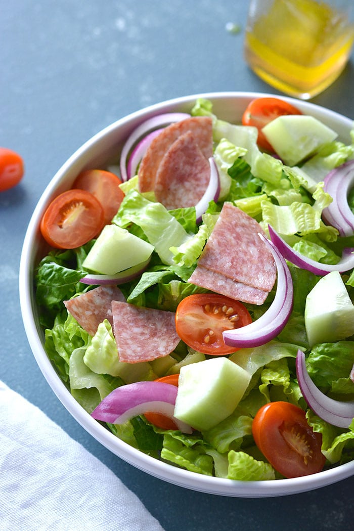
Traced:
<path id="1" fill-rule="evenodd" d="M 231 0 L 0 0 L 0 145 L 21 153 L 26 166 L 22 183 L 0 194 L 0 379 L 110 467 L 167 531 L 350 529 L 354 478 L 252 500 L 185 490 L 124 463 L 55 397 L 21 321 L 25 229 L 47 183 L 83 142 L 162 100 L 210 91 L 278 93 L 244 62 L 247 7 Z M 240 24 L 240 33 L 230 33 L 228 23 Z M 340 79 L 312 100 L 350 118 L 352 59 Z"/>

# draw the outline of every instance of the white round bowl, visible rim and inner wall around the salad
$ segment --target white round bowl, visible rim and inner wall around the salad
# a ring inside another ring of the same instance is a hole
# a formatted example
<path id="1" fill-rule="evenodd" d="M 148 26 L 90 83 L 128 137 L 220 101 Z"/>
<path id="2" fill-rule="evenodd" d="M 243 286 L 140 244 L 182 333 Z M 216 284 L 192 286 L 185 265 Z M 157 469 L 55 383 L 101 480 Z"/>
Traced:
<path id="1" fill-rule="evenodd" d="M 282 496 L 306 492 L 340 481 L 354 474 L 354 461 L 318 474 L 295 479 L 274 481 L 241 482 L 231 479 L 209 477 L 163 463 L 147 456 L 127 443 L 116 438 L 113 433 L 95 421 L 72 397 L 70 391 L 57 375 L 44 349 L 44 332 L 39 324 L 39 316 L 33 290 L 33 271 L 39 260 L 47 252 L 41 237 L 40 219 L 48 205 L 58 193 L 71 187 L 76 175 L 85 168 L 102 167 L 116 162 L 117 149 L 128 134 L 145 119 L 160 113 L 189 112 L 198 97 L 212 100 L 213 112 L 229 122 L 240 122 L 243 110 L 249 101 L 260 96 L 271 96 L 252 92 L 217 92 L 192 95 L 162 102 L 135 112 L 109 125 L 78 149 L 58 170 L 42 194 L 31 217 L 24 238 L 20 263 L 20 303 L 22 318 L 32 352 L 49 386 L 61 400 L 68 412 L 97 441 L 127 463 L 178 486 L 195 491 L 225 496 L 260 498 Z M 304 113 L 315 116 L 339 133 L 340 139 L 350 142 L 352 121 L 330 110 L 282 97 L 297 106 Z"/>

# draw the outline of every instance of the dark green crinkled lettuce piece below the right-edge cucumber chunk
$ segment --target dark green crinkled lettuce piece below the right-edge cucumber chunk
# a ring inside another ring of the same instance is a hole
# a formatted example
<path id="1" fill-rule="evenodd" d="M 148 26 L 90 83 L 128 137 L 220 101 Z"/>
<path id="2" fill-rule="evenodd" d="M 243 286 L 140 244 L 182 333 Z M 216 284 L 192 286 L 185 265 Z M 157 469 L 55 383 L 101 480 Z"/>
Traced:
<path id="1" fill-rule="evenodd" d="M 323 392 L 347 394 L 354 398 L 350 371 L 354 364 L 354 341 L 315 345 L 306 358 L 310 378 Z"/>

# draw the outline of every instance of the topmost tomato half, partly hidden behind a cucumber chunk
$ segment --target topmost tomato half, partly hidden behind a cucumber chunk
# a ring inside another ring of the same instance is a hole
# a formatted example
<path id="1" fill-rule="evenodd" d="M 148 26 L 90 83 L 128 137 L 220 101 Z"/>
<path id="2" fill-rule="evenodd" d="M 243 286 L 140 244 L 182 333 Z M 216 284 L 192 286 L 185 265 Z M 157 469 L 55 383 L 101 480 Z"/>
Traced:
<path id="1" fill-rule="evenodd" d="M 258 129 L 257 144 L 261 149 L 274 152 L 271 144 L 262 132 L 262 127 L 269 122 L 287 114 L 303 114 L 299 109 L 290 105 L 287 101 L 278 98 L 256 98 L 252 100 L 242 117 L 242 125 L 252 125 Z"/>

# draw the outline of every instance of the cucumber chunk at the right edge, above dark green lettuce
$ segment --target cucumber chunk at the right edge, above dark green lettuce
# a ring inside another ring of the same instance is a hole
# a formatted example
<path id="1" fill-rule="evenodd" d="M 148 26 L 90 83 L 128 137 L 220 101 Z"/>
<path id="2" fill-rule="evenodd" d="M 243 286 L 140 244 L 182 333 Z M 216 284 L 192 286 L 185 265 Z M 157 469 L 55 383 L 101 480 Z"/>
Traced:
<path id="1" fill-rule="evenodd" d="M 354 305 L 338 271 L 318 280 L 306 298 L 305 328 L 310 346 L 354 333 Z"/>

